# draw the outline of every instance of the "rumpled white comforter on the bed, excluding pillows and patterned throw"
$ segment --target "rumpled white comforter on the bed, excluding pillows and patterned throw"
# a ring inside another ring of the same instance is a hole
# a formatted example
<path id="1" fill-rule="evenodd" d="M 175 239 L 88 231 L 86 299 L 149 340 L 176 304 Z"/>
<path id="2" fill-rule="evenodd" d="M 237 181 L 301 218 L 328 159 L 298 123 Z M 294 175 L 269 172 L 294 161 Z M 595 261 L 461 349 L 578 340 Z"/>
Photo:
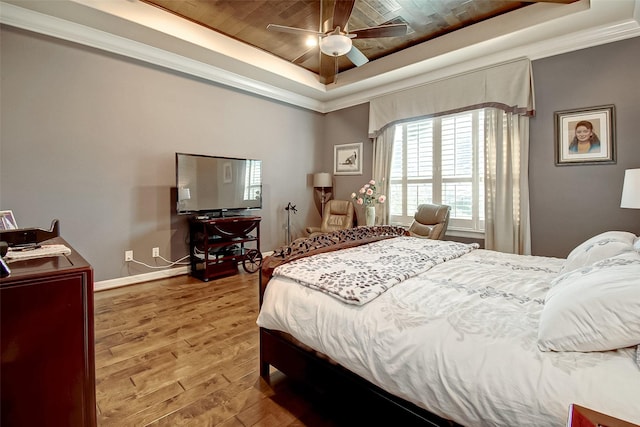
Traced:
<path id="1" fill-rule="evenodd" d="M 571 403 L 640 424 L 635 350 L 536 346 L 562 262 L 475 250 L 362 306 L 274 277 L 258 325 L 462 425 L 562 426 Z"/>

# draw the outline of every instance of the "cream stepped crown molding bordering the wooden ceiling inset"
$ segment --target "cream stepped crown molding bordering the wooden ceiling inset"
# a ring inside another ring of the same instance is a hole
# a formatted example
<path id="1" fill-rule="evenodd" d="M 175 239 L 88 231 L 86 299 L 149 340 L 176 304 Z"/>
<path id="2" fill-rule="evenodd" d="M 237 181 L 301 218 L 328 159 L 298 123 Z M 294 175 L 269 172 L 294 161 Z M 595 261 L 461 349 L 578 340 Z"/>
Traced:
<path id="1" fill-rule="evenodd" d="M 89 5 L 80 4 L 83 1 Z M 528 6 L 529 8 L 539 6 L 532 10 L 541 11 L 540 22 L 529 28 L 514 27 L 512 32 L 503 35 L 495 34 L 494 30 L 494 33 L 484 35 L 484 38 L 478 38 L 480 41 L 468 46 L 462 46 L 459 35 L 456 35 L 458 40 L 453 35 L 442 37 L 436 44 L 423 43 L 373 61 L 371 65 L 341 73 L 338 79 L 340 84 L 324 87 L 315 81 L 312 73 L 306 70 L 301 71 L 300 67 L 287 61 L 265 56 L 265 53 L 258 49 L 230 41 L 230 39 L 223 39 L 221 42 L 216 40 L 218 45 L 224 44 L 223 49 L 220 50 L 226 49 L 222 53 L 213 52 L 217 56 L 211 54 L 210 47 L 204 44 L 198 45 L 196 41 L 188 40 L 188 37 L 182 39 L 180 38 L 183 37 L 182 35 L 180 37 L 171 35 L 171 43 L 166 43 L 166 46 L 172 48 L 177 46 L 177 48 L 173 50 L 161 48 L 153 46 L 150 40 L 155 41 L 169 36 L 148 26 L 144 27 L 147 38 L 143 41 L 134 40 L 134 37 L 125 37 L 94 28 L 97 26 L 95 16 L 93 20 L 85 18 L 85 25 L 82 17 L 78 17 L 82 14 L 75 9 L 73 10 L 75 14 L 67 13 L 63 15 L 66 19 L 63 19 L 47 13 L 50 11 L 41 12 L 22 7 L 36 3 L 39 2 L 17 2 L 16 4 L 0 2 L 0 23 L 134 58 L 320 113 L 366 103 L 385 93 L 515 58 L 540 59 L 640 36 L 640 0 L 591 0 L 590 2 L 581 0 L 572 4 L 571 6 L 575 5 L 572 9 L 562 9 L 570 11 L 566 16 L 558 15 L 557 11 L 560 9 L 554 7 L 557 5 L 539 3 Z M 71 9 L 88 9 L 92 5 L 111 4 L 90 0 L 73 0 L 63 3 Z M 91 11 L 94 10 L 91 9 Z M 105 15 L 104 11 L 100 13 L 102 13 L 100 18 L 111 16 Z M 124 22 L 121 27 L 136 25 L 132 21 L 118 18 Z M 104 19 L 100 22 L 104 22 Z M 504 23 L 507 22 L 504 21 Z M 477 25 L 477 28 L 487 32 L 487 29 L 495 28 L 495 23 L 490 24 Z M 166 28 L 166 25 L 164 27 Z M 585 27 L 587 29 L 583 29 Z M 141 32 L 140 28 L 136 27 L 138 33 Z M 136 31 L 123 32 L 127 35 L 133 33 Z M 471 33 L 464 34 L 468 38 L 467 34 Z M 532 34 L 536 36 L 533 37 Z M 193 33 L 189 36 L 193 36 Z M 203 36 L 199 35 L 199 37 Z M 242 45 L 238 50 L 240 52 L 238 59 L 232 58 L 233 51 L 229 46 L 233 47 L 233 43 Z M 158 46 L 162 44 L 158 42 Z M 430 51 L 436 53 L 429 53 Z M 259 58 L 264 65 L 248 64 L 246 60 L 240 58 L 241 56 L 253 58 L 254 62 Z M 412 62 L 411 56 L 418 59 Z M 391 70 L 394 64 L 408 65 Z M 368 74 L 365 74 L 362 68 L 367 68 Z M 380 72 L 377 72 L 378 70 Z"/>

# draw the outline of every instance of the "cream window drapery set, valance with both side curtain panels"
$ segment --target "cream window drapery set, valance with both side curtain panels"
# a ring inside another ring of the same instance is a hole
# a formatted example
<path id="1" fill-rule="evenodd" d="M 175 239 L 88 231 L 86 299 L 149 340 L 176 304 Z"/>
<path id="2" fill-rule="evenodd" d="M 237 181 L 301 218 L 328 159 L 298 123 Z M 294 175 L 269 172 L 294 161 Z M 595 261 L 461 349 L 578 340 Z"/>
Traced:
<path id="1" fill-rule="evenodd" d="M 496 64 L 388 93 L 369 102 L 373 171 L 388 183 L 394 125 L 421 117 L 486 108 L 485 247 L 530 254 L 529 118 L 535 111 L 526 59 Z M 391 136 L 389 136 L 391 135 Z M 389 189 L 384 191 L 388 193 Z M 378 215 L 388 223 L 388 207 Z"/>

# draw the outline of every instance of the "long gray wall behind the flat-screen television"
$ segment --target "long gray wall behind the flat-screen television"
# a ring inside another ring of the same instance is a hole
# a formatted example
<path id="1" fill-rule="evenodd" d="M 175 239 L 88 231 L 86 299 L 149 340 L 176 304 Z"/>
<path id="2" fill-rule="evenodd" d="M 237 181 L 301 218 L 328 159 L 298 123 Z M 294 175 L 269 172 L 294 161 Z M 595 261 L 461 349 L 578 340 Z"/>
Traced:
<path id="1" fill-rule="evenodd" d="M 324 116 L 73 43 L 3 27 L 0 209 L 21 227 L 62 236 L 96 280 L 152 270 L 187 254 L 175 215 L 176 151 L 263 160 L 262 249 L 320 222 L 310 174 L 321 167 Z"/>

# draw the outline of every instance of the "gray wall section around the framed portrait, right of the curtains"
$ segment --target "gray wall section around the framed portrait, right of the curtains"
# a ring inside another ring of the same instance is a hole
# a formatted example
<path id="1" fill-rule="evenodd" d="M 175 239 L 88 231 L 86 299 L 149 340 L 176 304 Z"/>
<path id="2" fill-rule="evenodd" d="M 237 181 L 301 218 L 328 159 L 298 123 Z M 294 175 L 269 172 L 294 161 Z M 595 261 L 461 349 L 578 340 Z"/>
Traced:
<path id="1" fill-rule="evenodd" d="M 640 168 L 640 37 L 533 62 L 530 127 L 532 252 L 565 257 L 606 230 L 640 234 L 640 210 L 621 209 L 624 170 Z M 614 104 L 617 162 L 555 166 L 554 112 Z"/>

